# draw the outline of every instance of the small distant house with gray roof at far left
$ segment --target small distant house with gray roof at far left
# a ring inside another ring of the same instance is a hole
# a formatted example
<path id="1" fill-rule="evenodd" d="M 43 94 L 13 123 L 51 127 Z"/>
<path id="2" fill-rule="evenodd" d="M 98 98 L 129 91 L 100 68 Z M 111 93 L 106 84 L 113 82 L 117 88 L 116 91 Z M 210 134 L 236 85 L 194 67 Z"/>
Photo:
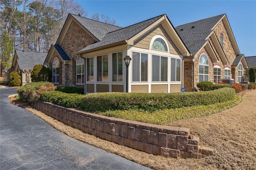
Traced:
<path id="1" fill-rule="evenodd" d="M 21 85 L 31 82 L 30 73 L 26 72 L 26 69 L 33 69 L 33 67 L 38 64 L 44 65 L 46 56 L 47 53 L 15 50 L 12 67 L 5 72 L 5 81 L 10 81 L 10 73 L 17 71 L 21 76 Z"/>

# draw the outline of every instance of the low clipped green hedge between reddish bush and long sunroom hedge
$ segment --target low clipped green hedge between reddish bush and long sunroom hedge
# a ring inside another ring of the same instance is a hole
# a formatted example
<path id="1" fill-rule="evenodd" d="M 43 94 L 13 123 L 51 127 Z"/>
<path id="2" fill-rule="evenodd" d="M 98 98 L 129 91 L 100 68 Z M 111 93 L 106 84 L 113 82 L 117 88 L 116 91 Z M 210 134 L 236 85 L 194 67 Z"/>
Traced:
<path id="1" fill-rule="evenodd" d="M 40 101 L 54 103 L 59 106 L 76 108 L 80 107 L 82 97 L 80 94 L 68 94 L 60 91 L 44 91 L 40 95 Z"/>

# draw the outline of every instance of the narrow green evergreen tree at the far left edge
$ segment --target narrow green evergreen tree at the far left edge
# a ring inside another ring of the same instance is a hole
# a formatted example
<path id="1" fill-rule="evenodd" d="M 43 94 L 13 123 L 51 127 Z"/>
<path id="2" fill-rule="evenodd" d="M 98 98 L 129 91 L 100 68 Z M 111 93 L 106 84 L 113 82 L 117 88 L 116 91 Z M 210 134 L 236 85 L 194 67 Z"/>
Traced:
<path id="1" fill-rule="evenodd" d="M 7 70 L 12 63 L 12 58 L 13 58 L 13 49 L 14 45 L 12 43 L 12 40 L 8 36 L 7 32 L 4 31 L 4 34 L 1 37 L 0 41 L 0 46 L 1 46 L 1 77 L 2 73 L 4 70 Z"/>

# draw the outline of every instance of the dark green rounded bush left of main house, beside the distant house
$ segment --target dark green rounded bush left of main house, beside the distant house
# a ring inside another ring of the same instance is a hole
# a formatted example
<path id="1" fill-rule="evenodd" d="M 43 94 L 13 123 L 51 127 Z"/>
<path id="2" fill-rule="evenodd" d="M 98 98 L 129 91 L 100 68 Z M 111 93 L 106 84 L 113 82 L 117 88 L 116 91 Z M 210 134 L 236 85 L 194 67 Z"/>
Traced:
<path id="1" fill-rule="evenodd" d="M 35 65 L 31 72 L 32 82 L 51 81 L 51 77 L 50 69 L 41 64 Z"/>

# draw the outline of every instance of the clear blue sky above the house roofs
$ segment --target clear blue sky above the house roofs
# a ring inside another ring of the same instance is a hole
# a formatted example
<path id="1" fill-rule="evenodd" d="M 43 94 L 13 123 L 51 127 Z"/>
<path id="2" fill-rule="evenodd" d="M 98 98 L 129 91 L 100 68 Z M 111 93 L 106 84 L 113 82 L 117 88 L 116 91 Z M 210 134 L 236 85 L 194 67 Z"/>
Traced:
<path id="1" fill-rule="evenodd" d="M 94 13 L 114 18 L 121 27 L 166 14 L 174 27 L 225 14 L 240 53 L 256 55 L 256 1 L 246 0 L 77 0 L 90 16 Z"/>

